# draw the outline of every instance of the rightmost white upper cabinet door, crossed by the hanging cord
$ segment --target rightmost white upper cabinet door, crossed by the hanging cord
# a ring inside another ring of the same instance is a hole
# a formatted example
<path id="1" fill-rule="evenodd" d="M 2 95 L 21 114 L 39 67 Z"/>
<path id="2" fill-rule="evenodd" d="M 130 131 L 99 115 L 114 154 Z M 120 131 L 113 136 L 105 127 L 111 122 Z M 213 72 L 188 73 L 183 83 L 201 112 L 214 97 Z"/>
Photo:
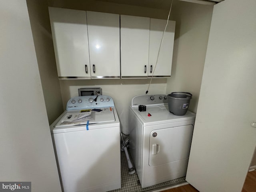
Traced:
<path id="1" fill-rule="evenodd" d="M 150 38 L 149 38 L 149 58 L 148 77 L 170 77 L 172 69 L 172 52 L 174 44 L 175 21 L 169 21 L 164 34 L 164 40 L 159 52 L 158 63 L 156 65 L 158 50 L 161 44 L 162 35 L 167 20 L 150 18 Z M 155 69 L 156 67 L 156 69 Z M 155 70 L 155 71 L 154 71 Z"/>

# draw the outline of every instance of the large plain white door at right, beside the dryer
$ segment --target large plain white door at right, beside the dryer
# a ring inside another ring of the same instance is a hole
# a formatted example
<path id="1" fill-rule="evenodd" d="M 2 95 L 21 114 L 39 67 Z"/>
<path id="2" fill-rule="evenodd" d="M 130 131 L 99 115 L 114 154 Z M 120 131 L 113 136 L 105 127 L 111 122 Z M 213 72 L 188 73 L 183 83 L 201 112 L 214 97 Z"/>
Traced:
<path id="1" fill-rule="evenodd" d="M 254 154 L 255 9 L 255 0 L 214 5 L 186 176 L 202 192 L 241 192 Z"/>

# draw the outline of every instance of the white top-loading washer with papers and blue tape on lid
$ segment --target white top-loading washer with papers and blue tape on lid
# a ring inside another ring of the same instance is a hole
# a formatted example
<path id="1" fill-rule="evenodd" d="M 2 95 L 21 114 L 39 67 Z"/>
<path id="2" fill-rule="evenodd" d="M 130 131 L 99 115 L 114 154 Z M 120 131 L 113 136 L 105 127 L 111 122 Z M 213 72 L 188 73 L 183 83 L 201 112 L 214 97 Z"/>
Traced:
<path id="1" fill-rule="evenodd" d="M 50 130 L 63 192 L 121 188 L 120 122 L 110 96 L 71 98 Z"/>

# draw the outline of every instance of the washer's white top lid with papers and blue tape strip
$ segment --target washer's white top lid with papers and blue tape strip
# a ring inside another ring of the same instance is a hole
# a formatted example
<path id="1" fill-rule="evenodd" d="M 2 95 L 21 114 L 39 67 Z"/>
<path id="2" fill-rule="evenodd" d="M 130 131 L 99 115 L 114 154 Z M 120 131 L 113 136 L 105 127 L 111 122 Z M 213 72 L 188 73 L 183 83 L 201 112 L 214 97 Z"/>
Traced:
<path id="1" fill-rule="evenodd" d="M 90 116 L 76 120 L 74 122 L 66 122 L 66 117 L 70 114 L 79 114 L 83 111 L 91 111 Z M 97 109 L 99 110 L 99 109 Z M 90 130 L 107 128 L 110 126 L 119 126 L 120 122 L 114 108 L 101 108 L 100 112 L 94 111 L 93 109 L 86 110 L 69 110 L 64 111 L 63 114 L 55 120 L 55 122 L 50 126 L 52 133 L 62 133 L 62 132 L 73 132 L 80 130 Z M 115 116 L 116 115 L 116 116 Z M 114 125 L 113 125 L 114 124 Z"/>

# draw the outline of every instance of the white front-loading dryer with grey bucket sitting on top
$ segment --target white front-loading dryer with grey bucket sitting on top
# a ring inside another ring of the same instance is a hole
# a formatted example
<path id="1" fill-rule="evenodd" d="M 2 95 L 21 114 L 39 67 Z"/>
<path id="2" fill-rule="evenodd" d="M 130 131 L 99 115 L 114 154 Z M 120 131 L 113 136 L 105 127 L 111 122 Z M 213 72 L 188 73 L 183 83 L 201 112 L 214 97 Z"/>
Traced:
<path id="1" fill-rule="evenodd" d="M 140 112 L 140 105 L 146 111 Z M 132 99 L 130 154 L 142 188 L 186 176 L 195 117 L 190 111 L 184 116 L 170 113 L 164 94 Z"/>

